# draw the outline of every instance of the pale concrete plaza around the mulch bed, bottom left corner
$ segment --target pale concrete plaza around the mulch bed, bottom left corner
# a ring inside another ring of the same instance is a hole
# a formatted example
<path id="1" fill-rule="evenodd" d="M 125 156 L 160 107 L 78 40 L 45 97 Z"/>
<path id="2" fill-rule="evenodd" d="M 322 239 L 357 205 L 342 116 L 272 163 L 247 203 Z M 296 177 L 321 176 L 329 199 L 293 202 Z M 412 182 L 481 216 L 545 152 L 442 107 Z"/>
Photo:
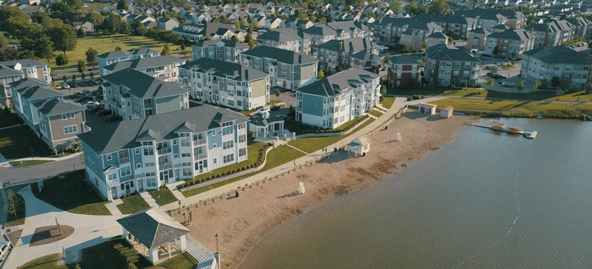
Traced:
<path id="1" fill-rule="evenodd" d="M 101 244 L 122 233 L 121 225 L 115 221 L 121 216 L 89 216 L 65 212 L 37 199 L 31 193 L 30 186 L 22 188 L 18 193 L 26 201 L 27 219 L 24 225 L 12 228 L 22 229 L 22 235 L 4 264 L 4 268 L 17 268 L 35 258 L 60 253 L 62 247 L 66 250 L 67 262 L 77 261 L 80 258 L 81 249 Z M 56 217 L 61 225 L 74 227 L 74 233 L 51 244 L 29 246 L 35 228 L 56 225 Z"/>

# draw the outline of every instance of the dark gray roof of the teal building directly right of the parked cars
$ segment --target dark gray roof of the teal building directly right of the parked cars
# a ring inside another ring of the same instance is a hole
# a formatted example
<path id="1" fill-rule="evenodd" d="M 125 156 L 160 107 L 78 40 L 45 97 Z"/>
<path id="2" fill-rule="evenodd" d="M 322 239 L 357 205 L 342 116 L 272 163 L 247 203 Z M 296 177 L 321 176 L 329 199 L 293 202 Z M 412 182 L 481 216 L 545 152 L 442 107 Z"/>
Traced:
<path id="1" fill-rule="evenodd" d="M 150 57 L 146 58 L 150 59 Z M 147 73 L 137 71 L 136 69 L 126 68 L 115 73 L 110 73 L 102 77 L 112 85 L 123 85 L 130 89 L 129 93 L 140 99 L 159 98 L 171 95 L 181 95 L 188 92 L 188 89 L 181 87 L 181 84 L 175 82 L 166 82 L 148 75 Z"/>

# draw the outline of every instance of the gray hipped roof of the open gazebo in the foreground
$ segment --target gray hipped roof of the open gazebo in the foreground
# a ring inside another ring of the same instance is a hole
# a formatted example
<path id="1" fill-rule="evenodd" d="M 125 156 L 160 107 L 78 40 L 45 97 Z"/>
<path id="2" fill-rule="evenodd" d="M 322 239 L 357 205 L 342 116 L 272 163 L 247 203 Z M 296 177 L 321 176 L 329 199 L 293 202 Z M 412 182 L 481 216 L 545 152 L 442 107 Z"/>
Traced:
<path id="1" fill-rule="evenodd" d="M 181 223 L 154 207 L 122 217 L 117 222 L 149 249 L 189 233 Z"/>

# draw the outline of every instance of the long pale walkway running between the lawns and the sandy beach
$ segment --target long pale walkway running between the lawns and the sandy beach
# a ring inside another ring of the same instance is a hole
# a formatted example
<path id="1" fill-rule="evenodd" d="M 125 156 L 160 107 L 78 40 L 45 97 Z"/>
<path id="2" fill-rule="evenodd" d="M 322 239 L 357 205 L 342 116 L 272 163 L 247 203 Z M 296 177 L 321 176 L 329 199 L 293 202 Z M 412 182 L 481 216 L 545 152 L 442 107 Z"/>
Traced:
<path id="1" fill-rule="evenodd" d="M 339 142 L 334 143 L 333 145 L 329 145 L 329 146 L 327 146 L 327 148 L 329 148 L 329 149 L 340 148 L 341 146 L 345 146 L 349 142 L 351 142 L 353 137 L 358 137 L 358 136 L 365 135 L 366 133 L 371 132 L 372 130 L 374 130 L 378 126 L 380 126 L 382 123 L 384 123 L 384 121 L 387 121 L 392 116 L 394 116 L 394 114 L 398 110 L 400 110 L 401 108 L 405 107 L 405 105 L 413 105 L 413 104 L 417 104 L 420 102 L 435 101 L 435 100 L 440 100 L 443 98 L 446 98 L 446 97 L 429 97 L 429 98 L 425 98 L 422 100 L 414 100 L 414 101 L 408 101 L 408 102 L 405 101 L 405 98 L 397 98 L 395 100 L 395 103 L 392 104 L 392 107 L 386 113 L 384 113 L 382 115 L 382 117 L 380 117 L 380 119 L 375 120 L 374 122 L 368 124 L 367 126 L 363 127 L 361 130 L 358 130 L 358 132 L 356 132 L 356 133 L 350 133 L 349 136 L 346 137 L 345 139 L 342 139 Z M 305 162 L 313 161 L 314 159 L 316 159 L 318 156 L 321 156 L 321 155 L 323 155 L 323 152 L 319 149 L 316 152 L 312 152 L 306 156 L 296 159 L 295 162 L 296 162 L 296 164 L 304 164 Z M 275 175 L 280 174 L 281 172 L 284 172 L 284 171 L 288 171 L 289 169 L 292 169 L 292 168 L 294 168 L 294 162 L 292 162 L 292 161 L 287 162 L 283 165 L 276 166 L 275 168 L 269 169 L 264 172 L 260 172 L 259 174 L 253 175 L 251 177 L 244 178 L 243 180 L 232 182 L 230 184 L 223 185 L 223 186 L 215 188 L 213 190 L 205 191 L 203 193 L 196 194 L 191 197 L 180 199 L 181 206 L 189 206 L 191 204 L 198 203 L 199 201 L 207 200 L 207 199 L 210 199 L 213 197 L 220 196 L 222 194 L 226 194 L 229 191 L 236 190 L 237 188 L 243 187 L 246 184 L 247 185 L 252 184 L 256 181 L 261 180 L 262 178 L 275 177 Z M 296 188 L 296 186 L 295 186 L 295 188 Z M 166 204 L 165 206 L 160 207 L 160 209 L 162 209 L 164 211 L 176 210 L 178 208 L 179 208 L 178 203 L 170 203 L 170 204 Z"/>

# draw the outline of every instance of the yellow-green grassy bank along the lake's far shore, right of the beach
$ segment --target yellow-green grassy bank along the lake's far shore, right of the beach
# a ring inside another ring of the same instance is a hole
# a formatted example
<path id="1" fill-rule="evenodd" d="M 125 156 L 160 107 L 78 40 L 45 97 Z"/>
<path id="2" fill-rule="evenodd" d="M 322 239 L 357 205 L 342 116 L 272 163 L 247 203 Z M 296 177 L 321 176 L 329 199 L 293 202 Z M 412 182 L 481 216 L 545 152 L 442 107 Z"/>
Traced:
<path id="1" fill-rule="evenodd" d="M 451 105 L 455 111 L 496 117 L 546 117 L 556 119 L 580 119 L 582 114 L 592 114 L 590 104 L 542 103 L 510 100 L 483 100 L 475 98 L 446 98 L 432 101 L 438 107 Z"/>

